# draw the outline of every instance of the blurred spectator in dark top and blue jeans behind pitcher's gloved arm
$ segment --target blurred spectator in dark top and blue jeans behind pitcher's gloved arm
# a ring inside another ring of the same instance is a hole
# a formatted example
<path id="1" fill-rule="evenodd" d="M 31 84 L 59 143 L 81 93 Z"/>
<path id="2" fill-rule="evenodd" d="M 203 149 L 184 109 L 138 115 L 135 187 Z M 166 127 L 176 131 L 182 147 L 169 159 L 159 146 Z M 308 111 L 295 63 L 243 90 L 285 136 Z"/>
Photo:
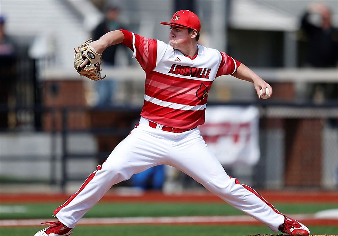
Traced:
<path id="1" fill-rule="evenodd" d="M 105 18 L 104 20 L 94 29 L 93 31 L 93 40 L 98 40 L 102 35 L 108 33 L 109 31 L 116 29 L 125 29 L 118 22 L 119 18 L 119 7 L 108 3 L 105 7 Z M 116 50 L 121 45 L 113 45 L 108 47 L 103 52 L 103 64 L 108 66 L 115 65 L 115 56 Z M 99 80 L 95 82 L 96 90 L 98 93 L 98 102 L 97 105 L 110 105 L 112 96 L 117 90 L 118 83 L 113 80 L 113 78 L 105 78 L 104 80 Z"/>

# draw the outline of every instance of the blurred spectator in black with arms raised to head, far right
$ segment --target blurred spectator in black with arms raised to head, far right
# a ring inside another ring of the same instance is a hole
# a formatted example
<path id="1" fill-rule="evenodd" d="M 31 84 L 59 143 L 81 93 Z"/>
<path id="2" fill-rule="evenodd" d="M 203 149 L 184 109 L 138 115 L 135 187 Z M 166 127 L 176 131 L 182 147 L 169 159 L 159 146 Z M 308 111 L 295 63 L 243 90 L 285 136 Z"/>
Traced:
<path id="1" fill-rule="evenodd" d="M 310 5 L 301 18 L 301 30 L 305 32 L 309 42 L 307 65 L 338 68 L 338 29 L 332 26 L 330 9 L 322 3 Z M 338 99 L 338 84 L 312 84 L 308 93 L 308 97 L 315 101 Z"/>

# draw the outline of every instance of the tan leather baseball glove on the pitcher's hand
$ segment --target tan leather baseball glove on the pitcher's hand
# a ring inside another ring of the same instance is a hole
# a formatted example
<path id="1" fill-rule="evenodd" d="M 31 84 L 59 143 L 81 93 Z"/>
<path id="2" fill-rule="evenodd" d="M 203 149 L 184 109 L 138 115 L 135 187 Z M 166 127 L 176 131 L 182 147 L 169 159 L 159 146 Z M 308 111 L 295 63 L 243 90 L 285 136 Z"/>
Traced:
<path id="1" fill-rule="evenodd" d="M 95 52 L 94 49 L 89 46 L 89 43 L 92 41 L 90 38 L 84 44 L 78 46 L 77 50 L 74 48 L 74 68 L 82 77 L 86 76 L 91 80 L 97 81 L 104 79 L 106 76 L 101 77 L 100 66 L 102 63 L 102 54 Z M 83 68 L 80 68 L 80 65 L 86 59 L 88 59 L 89 62 Z"/>

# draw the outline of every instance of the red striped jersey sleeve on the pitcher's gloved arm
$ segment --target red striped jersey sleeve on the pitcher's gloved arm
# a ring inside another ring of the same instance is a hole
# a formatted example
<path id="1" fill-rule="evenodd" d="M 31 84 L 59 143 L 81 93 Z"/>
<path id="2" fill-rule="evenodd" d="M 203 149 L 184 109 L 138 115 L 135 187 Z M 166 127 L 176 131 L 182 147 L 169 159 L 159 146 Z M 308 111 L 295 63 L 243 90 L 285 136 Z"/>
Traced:
<path id="1" fill-rule="evenodd" d="M 130 48 L 145 72 L 150 72 L 156 67 L 157 41 L 128 30 L 120 29 L 124 34 L 122 44 Z"/>

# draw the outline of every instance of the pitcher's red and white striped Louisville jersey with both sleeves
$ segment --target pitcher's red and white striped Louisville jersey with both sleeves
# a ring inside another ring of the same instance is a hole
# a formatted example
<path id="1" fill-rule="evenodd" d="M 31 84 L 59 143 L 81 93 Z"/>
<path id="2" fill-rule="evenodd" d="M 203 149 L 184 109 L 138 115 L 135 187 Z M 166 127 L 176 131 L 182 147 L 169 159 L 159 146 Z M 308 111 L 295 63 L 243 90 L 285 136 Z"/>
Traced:
<path id="1" fill-rule="evenodd" d="M 134 52 L 146 73 L 141 116 L 181 129 L 202 125 L 212 82 L 235 73 L 240 62 L 201 45 L 191 58 L 162 41 L 121 31 L 123 44 Z"/>

